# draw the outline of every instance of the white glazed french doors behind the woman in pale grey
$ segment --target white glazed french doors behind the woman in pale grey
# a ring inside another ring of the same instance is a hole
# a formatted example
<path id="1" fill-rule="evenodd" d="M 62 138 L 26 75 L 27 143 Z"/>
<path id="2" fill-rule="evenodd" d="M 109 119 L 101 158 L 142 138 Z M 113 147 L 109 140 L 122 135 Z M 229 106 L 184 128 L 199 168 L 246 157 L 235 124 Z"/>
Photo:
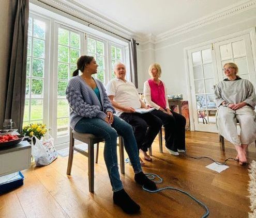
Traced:
<path id="1" fill-rule="evenodd" d="M 225 76 L 224 63 L 237 64 L 238 75 L 255 87 L 256 74 L 250 35 L 234 37 L 188 51 L 191 106 L 196 131 L 218 132 L 214 88 Z"/>

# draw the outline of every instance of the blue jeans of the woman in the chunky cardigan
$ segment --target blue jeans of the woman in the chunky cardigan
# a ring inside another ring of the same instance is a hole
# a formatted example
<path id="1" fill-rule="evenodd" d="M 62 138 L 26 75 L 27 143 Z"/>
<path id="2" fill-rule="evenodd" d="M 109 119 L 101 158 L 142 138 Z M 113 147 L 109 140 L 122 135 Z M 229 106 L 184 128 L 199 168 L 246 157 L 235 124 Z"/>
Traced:
<path id="1" fill-rule="evenodd" d="M 142 172 L 137 144 L 133 135 L 133 129 L 130 124 L 114 115 L 114 122 L 109 125 L 99 118 L 83 118 L 74 130 L 82 133 L 91 133 L 105 140 L 104 160 L 107 165 L 109 178 L 113 191 L 123 189 L 117 165 L 116 140 L 117 134 L 124 138 L 125 150 L 130 158 L 134 173 Z"/>

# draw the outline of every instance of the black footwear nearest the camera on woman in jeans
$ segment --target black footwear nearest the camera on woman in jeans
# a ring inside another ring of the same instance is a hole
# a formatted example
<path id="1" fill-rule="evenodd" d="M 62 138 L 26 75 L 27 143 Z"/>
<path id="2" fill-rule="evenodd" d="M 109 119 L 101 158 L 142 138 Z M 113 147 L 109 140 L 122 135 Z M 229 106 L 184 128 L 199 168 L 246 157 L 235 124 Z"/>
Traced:
<path id="1" fill-rule="evenodd" d="M 140 205 L 134 202 L 130 196 L 125 192 L 124 189 L 121 189 L 113 193 L 113 200 L 116 205 L 121 207 L 124 212 L 133 214 L 140 211 Z"/>

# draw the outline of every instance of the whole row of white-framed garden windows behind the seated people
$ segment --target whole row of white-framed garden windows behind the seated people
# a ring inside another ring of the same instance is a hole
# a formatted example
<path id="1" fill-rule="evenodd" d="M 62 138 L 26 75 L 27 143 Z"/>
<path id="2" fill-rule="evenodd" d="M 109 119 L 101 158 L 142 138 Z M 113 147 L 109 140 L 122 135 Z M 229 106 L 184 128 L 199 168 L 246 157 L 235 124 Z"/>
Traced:
<path id="1" fill-rule="evenodd" d="M 77 59 L 86 54 L 94 56 L 99 65 L 95 77 L 106 84 L 112 78 L 113 64 L 124 60 L 125 49 L 113 40 L 90 35 L 81 24 L 64 25 L 64 20 L 56 20 L 56 14 L 54 19 L 42 18 L 33 11 L 29 14 L 23 125 L 46 124 L 55 144 L 69 141 L 66 88 L 77 69 Z"/>

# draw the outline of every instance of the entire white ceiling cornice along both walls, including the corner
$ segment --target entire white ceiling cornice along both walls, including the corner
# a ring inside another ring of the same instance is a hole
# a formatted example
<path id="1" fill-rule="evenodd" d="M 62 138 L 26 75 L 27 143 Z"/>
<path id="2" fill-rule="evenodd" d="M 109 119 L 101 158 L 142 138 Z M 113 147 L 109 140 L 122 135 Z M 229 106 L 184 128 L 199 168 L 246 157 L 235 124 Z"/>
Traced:
<path id="1" fill-rule="evenodd" d="M 147 35 L 137 34 L 132 30 L 125 28 L 124 26 L 115 23 L 114 21 L 104 17 L 103 15 L 86 8 L 85 6 L 74 2 L 73 0 L 38 0 L 39 2 L 47 3 L 55 8 L 61 9 L 71 15 L 77 16 L 89 23 L 95 24 L 102 27 L 110 32 L 116 33 L 126 39 L 134 38 L 141 44 L 146 43 L 158 43 L 169 38 L 176 37 L 183 33 L 189 32 L 191 30 L 200 28 L 202 26 L 214 23 L 216 21 L 228 18 L 234 14 L 244 12 L 245 10 L 256 7 L 256 0 L 242 1 L 234 4 L 230 7 L 223 8 L 215 13 L 204 16 L 198 20 L 194 20 L 185 25 L 179 26 L 177 28 L 168 30 L 166 32 L 160 33 L 157 36 L 149 33 Z"/>

